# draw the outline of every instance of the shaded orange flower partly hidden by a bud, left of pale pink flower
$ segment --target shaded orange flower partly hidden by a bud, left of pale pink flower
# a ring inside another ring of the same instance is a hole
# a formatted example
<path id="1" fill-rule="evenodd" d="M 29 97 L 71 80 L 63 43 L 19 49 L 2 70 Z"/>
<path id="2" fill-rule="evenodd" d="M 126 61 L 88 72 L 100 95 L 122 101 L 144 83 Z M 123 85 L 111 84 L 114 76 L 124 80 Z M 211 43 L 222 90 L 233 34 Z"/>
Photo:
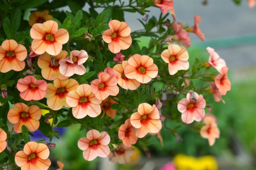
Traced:
<path id="1" fill-rule="evenodd" d="M 60 51 L 58 55 L 55 56 L 54 65 L 51 64 L 51 57 L 48 53 L 43 53 L 39 56 L 37 64 L 42 69 L 42 76 L 46 80 L 54 80 L 54 79 L 60 79 L 60 80 L 66 80 L 68 79 L 67 76 L 62 75 L 60 73 L 60 65 L 59 60 L 66 58 L 68 55 L 68 52 Z"/>

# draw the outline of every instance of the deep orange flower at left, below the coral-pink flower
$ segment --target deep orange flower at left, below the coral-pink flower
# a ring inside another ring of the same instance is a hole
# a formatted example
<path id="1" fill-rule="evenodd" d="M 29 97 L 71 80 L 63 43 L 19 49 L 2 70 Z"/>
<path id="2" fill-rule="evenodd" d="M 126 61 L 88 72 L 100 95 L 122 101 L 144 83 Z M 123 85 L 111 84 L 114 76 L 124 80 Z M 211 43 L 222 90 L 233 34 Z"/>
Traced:
<path id="1" fill-rule="evenodd" d="M 36 131 L 41 116 L 42 112 L 38 106 L 28 107 L 25 103 L 16 103 L 7 114 L 8 120 L 14 124 L 13 129 L 16 133 L 22 132 L 22 125 L 25 125 L 28 131 Z"/>

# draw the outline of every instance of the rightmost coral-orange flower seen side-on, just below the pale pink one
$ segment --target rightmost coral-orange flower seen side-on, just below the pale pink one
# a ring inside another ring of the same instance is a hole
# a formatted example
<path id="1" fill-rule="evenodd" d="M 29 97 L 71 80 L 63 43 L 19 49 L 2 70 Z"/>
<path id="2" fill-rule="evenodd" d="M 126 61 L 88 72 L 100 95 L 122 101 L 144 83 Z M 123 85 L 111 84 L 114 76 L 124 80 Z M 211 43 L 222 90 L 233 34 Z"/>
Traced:
<path id="1" fill-rule="evenodd" d="M 228 67 L 221 68 L 220 74 L 215 77 L 215 85 L 221 95 L 226 95 L 227 91 L 231 89 L 231 82 L 228 80 Z"/>

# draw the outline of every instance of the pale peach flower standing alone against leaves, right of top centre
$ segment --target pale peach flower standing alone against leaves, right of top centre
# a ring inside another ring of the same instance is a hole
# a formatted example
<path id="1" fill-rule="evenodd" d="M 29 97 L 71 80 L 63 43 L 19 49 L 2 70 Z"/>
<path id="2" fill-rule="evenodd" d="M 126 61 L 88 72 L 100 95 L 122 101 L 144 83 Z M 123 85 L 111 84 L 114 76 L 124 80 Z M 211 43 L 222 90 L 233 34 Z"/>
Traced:
<path id="1" fill-rule="evenodd" d="M 187 70 L 189 68 L 188 51 L 184 46 L 170 44 L 168 49 L 161 53 L 164 62 L 169 63 L 169 74 L 174 75 L 179 70 Z"/>

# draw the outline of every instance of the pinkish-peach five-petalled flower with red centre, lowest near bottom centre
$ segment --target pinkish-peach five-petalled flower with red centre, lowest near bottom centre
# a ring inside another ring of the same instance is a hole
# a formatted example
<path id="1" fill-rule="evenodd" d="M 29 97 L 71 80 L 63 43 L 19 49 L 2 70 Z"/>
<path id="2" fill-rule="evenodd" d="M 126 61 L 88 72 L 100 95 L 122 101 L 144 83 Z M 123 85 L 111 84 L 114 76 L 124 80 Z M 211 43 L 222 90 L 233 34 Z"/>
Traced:
<path id="1" fill-rule="evenodd" d="M 78 140 L 79 149 L 83 150 L 83 155 L 85 160 L 93 160 L 97 156 L 106 158 L 110 149 L 108 144 L 110 142 L 110 137 L 107 132 L 99 132 L 97 130 L 90 130 L 86 134 L 87 138 L 80 138 Z"/>

